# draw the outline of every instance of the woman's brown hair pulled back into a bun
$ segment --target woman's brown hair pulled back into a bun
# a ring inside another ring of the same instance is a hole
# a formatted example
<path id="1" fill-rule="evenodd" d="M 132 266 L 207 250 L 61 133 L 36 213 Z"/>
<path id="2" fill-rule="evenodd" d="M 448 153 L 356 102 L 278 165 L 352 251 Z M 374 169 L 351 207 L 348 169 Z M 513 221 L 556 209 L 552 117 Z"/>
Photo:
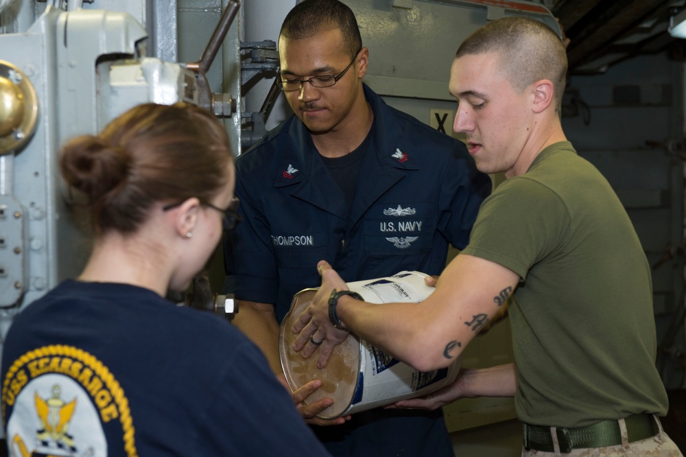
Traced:
<path id="1" fill-rule="evenodd" d="M 233 161 L 226 129 L 189 104 L 142 104 L 62 148 L 64 180 L 88 199 L 97 235 L 132 233 L 156 202 L 211 198 Z"/>

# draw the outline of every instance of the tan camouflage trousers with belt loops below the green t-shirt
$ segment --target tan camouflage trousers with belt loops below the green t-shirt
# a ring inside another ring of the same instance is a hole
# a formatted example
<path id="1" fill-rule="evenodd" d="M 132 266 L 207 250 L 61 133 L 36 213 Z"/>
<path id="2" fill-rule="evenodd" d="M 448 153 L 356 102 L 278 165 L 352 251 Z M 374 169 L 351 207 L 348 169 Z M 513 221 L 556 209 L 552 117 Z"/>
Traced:
<path id="1" fill-rule="evenodd" d="M 622 444 L 617 446 L 607 447 L 587 447 L 584 449 L 573 449 L 568 454 L 561 454 L 560 452 L 543 452 L 535 451 L 534 449 L 522 449 L 522 457 L 683 457 L 679 448 L 674 444 L 672 438 L 667 436 L 662 428 L 660 420 L 656 417 L 655 421 L 659 426 L 660 432 L 641 441 L 628 442 L 626 436 L 626 425 L 624 419 L 619 419 L 619 430 L 622 431 Z M 557 440 L 557 434 L 554 427 L 550 427 L 551 437 L 555 449 L 559 449 L 560 445 Z"/>

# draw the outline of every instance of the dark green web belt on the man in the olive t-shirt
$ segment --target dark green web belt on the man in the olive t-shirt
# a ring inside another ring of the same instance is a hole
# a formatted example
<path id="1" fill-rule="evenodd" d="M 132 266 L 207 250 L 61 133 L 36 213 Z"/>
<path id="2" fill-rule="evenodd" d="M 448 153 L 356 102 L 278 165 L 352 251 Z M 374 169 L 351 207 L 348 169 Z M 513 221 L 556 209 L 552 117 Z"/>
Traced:
<path id="1" fill-rule="evenodd" d="M 660 432 L 652 414 L 634 414 L 624 419 L 629 443 L 641 441 Z M 543 425 L 524 425 L 524 448 L 541 452 L 555 452 L 551 428 Z M 556 429 L 560 453 L 569 454 L 572 449 L 606 447 L 622 444 L 622 432 L 618 421 L 600 421 L 587 427 Z"/>

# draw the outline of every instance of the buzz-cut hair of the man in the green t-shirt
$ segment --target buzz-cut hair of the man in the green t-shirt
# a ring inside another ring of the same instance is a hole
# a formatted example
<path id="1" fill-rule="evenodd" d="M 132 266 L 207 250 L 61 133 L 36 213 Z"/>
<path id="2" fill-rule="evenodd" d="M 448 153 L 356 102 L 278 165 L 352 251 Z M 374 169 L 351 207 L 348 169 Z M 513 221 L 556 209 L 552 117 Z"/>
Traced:
<path id="1" fill-rule="evenodd" d="M 556 107 L 562 103 L 567 78 L 567 50 L 550 27 L 525 17 L 506 17 L 484 25 L 468 36 L 456 58 L 494 52 L 515 91 L 538 80 L 550 80 Z"/>

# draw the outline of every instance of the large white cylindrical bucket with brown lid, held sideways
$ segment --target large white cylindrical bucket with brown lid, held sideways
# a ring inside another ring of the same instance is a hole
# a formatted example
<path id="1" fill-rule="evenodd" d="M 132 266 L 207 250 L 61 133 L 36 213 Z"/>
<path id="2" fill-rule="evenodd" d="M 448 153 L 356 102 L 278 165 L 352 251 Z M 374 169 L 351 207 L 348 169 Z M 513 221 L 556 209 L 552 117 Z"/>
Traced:
<path id="1" fill-rule="evenodd" d="M 426 276 L 420 272 L 404 271 L 392 277 L 348 283 L 348 288 L 369 303 L 419 303 L 434 291 L 425 285 Z M 303 359 L 293 350 L 297 334 L 292 331 L 296 318 L 311 303 L 316 292 L 316 289 L 305 289 L 294 296 L 291 309 L 281 323 L 279 355 L 291 390 L 313 379 L 322 381 L 322 386 L 305 400 L 313 403 L 322 398 L 333 399 L 333 404 L 318 417 L 333 419 L 402 399 L 421 397 L 456 379 L 459 358 L 447 368 L 423 373 L 384 354 L 353 333 L 335 347 L 326 368 L 317 368 L 320 349 L 316 349 L 307 360 Z"/>

